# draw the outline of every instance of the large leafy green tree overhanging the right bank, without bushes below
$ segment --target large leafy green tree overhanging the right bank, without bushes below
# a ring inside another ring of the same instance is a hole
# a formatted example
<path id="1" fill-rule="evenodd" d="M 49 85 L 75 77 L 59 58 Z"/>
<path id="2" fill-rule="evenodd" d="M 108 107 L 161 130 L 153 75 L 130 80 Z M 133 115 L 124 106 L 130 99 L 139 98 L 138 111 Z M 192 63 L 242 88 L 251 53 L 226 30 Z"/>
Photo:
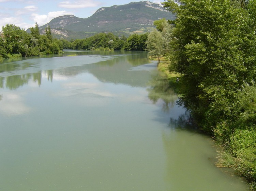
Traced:
<path id="1" fill-rule="evenodd" d="M 181 101 L 210 132 L 224 116 L 234 116 L 238 88 L 255 76 L 254 18 L 229 0 L 179 3 L 164 2 L 177 15 L 169 59 L 183 75 Z"/>

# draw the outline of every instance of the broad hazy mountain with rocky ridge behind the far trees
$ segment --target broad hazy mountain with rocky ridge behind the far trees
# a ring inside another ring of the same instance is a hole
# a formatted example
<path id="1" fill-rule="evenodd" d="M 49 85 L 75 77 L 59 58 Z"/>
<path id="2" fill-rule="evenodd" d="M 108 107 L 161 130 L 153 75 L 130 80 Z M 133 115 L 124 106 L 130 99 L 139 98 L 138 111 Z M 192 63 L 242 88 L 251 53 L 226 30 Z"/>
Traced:
<path id="1" fill-rule="evenodd" d="M 60 16 L 39 28 L 43 33 L 45 27 L 49 25 L 55 37 L 66 39 L 85 38 L 99 32 L 127 36 L 135 32 L 151 31 L 154 28 L 153 22 L 162 18 L 174 20 L 175 16 L 159 4 L 140 1 L 102 7 L 86 19 L 74 15 Z"/>

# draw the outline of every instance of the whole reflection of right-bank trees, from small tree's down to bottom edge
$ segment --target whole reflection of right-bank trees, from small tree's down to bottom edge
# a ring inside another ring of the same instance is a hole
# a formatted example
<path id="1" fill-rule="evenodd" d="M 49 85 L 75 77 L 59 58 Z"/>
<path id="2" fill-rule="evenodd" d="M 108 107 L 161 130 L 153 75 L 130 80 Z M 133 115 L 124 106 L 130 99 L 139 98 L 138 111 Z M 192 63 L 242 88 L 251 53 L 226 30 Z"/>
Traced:
<path id="1" fill-rule="evenodd" d="M 171 116 L 168 128 L 162 131 L 167 166 L 165 180 L 171 190 L 245 190 L 246 184 L 240 182 L 240 177 L 215 167 L 217 152 L 213 140 L 193 125 L 190 112 L 177 106 L 178 97 L 167 77 L 163 73 L 152 75 L 149 86 L 149 99 L 154 104 L 162 103 L 164 113 Z M 163 116 L 157 118 L 164 121 Z M 212 174 L 218 174 L 219 179 L 212 181 Z"/>

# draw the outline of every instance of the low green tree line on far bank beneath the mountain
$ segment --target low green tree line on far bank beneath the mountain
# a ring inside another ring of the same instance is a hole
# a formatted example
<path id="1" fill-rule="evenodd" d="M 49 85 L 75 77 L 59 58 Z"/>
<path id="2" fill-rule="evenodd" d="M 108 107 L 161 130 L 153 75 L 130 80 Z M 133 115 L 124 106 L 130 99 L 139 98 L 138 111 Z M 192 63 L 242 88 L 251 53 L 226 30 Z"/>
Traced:
<path id="1" fill-rule="evenodd" d="M 132 34 L 128 38 L 112 33 L 98 33 L 85 39 L 62 39 L 63 49 L 73 50 L 129 50 L 145 51 L 148 34 Z"/>

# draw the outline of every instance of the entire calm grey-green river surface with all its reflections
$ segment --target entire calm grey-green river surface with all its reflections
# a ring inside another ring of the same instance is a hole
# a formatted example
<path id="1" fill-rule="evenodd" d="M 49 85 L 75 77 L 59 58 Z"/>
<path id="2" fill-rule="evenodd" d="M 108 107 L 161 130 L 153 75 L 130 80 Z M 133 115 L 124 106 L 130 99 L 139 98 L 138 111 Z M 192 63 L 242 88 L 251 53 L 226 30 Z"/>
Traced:
<path id="1" fill-rule="evenodd" d="M 0 190 L 246 190 L 156 65 L 129 51 L 1 63 Z"/>

